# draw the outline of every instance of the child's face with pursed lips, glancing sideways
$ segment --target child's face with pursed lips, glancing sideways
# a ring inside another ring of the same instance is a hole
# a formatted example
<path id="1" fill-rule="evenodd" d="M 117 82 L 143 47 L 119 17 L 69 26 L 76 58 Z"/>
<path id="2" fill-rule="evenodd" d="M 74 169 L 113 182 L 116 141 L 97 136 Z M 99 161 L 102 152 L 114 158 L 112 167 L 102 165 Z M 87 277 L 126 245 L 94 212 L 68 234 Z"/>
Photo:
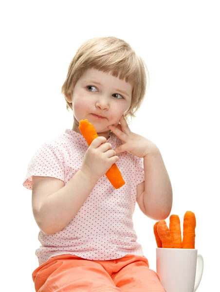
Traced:
<path id="1" fill-rule="evenodd" d="M 120 91 L 125 91 L 128 95 Z M 73 103 L 73 130 L 81 133 L 78 128 L 79 121 L 87 119 L 99 136 L 108 139 L 108 126 L 117 126 L 122 115 L 128 111 L 131 93 L 132 86 L 118 77 L 95 69 L 87 70 L 77 81 L 72 100 L 68 100 Z M 105 118 L 99 119 L 93 114 Z"/>

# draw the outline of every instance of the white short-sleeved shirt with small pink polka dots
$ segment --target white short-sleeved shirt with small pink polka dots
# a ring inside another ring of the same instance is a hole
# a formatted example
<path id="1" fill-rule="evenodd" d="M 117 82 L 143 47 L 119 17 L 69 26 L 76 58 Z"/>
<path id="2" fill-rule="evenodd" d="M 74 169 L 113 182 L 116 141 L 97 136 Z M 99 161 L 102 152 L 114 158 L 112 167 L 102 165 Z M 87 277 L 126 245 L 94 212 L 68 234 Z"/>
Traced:
<path id="1" fill-rule="evenodd" d="M 112 149 L 123 144 L 112 132 L 107 142 Z M 64 134 L 39 147 L 28 165 L 23 186 L 32 190 L 33 175 L 54 177 L 68 183 L 81 168 L 88 147 L 80 133 L 66 129 Z M 145 180 L 143 158 L 127 151 L 117 156 L 116 164 L 125 184 L 115 189 L 104 175 L 64 229 L 52 235 L 40 230 L 41 246 L 35 253 L 39 265 L 52 256 L 63 254 L 90 260 L 116 259 L 128 254 L 144 256 L 132 221 L 136 187 Z"/>

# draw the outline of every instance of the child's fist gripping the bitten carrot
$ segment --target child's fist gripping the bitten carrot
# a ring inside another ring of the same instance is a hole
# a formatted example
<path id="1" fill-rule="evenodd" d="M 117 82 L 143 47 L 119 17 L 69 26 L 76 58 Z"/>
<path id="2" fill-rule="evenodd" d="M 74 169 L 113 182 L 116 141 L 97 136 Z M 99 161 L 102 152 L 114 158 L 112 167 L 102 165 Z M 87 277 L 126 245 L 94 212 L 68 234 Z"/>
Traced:
<path id="1" fill-rule="evenodd" d="M 81 166 L 88 176 L 101 178 L 110 169 L 111 165 L 118 161 L 118 156 L 110 143 L 103 136 L 96 137 L 87 149 Z"/>

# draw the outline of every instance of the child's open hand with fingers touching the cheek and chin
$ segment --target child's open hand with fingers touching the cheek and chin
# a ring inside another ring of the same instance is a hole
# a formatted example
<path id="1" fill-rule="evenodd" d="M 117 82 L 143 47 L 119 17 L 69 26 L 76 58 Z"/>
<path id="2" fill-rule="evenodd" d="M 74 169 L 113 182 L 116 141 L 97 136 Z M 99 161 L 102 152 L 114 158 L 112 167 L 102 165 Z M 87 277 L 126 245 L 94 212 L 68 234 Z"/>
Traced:
<path id="1" fill-rule="evenodd" d="M 153 142 L 147 140 L 141 135 L 131 132 L 124 115 L 122 115 L 120 123 L 121 125 L 118 124 L 116 127 L 113 125 L 108 127 L 116 136 L 118 136 L 119 139 L 125 142 L 125 144 L 114 149 L 116 154 L 128 151 L 131 154 L 142 158 L 151 151 L 158 149 Z"/>

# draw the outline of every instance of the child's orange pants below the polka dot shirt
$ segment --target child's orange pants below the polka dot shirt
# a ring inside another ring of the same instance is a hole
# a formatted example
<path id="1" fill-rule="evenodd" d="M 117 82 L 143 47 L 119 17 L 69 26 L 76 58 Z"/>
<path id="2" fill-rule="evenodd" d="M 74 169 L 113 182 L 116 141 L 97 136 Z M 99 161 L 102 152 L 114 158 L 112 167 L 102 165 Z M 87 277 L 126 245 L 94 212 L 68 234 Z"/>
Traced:
<path id="1" fill-rule="evenodd" d="M 73 255 L 49 258 L 32 274 L 37 292 L 165 292 L 145 256 L 87 260 Z"/>

